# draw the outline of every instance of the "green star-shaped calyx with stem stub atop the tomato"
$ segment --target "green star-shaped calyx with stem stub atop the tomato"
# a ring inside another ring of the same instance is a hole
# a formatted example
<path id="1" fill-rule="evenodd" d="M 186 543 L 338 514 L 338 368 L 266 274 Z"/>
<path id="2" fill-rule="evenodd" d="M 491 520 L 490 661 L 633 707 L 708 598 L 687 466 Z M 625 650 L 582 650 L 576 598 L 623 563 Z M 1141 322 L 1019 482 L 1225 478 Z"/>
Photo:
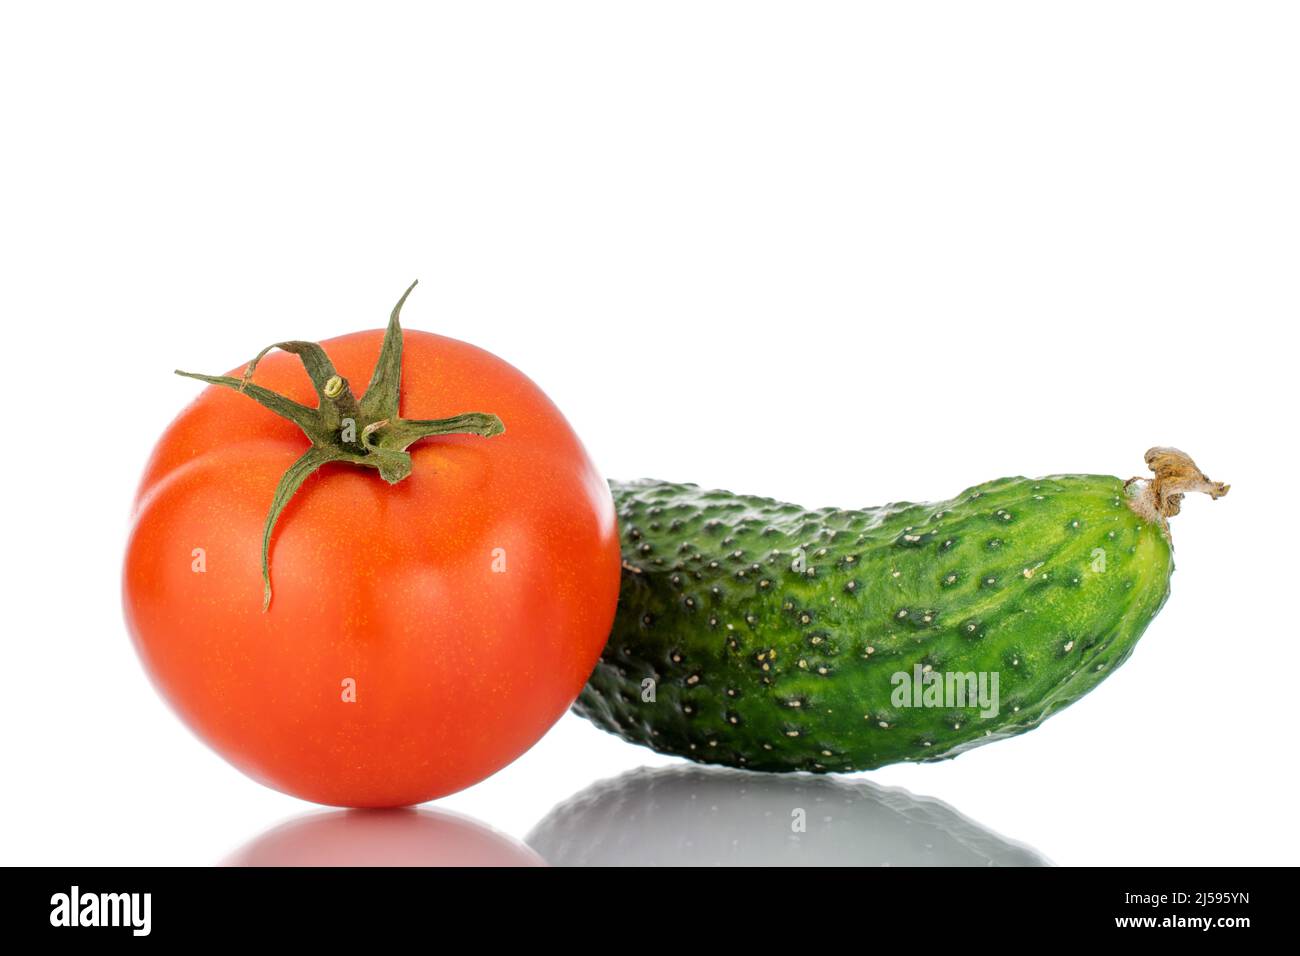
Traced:
<path id="1" fill-rule="evenodd" d="M 495 415 L 465 412 L 448 419 L 403 419 L 399 415 L 402 397 L 402 324 L 399 316 L 411 286 L 398 299 L 384 333 L 380 359 L 370 373 L 370 384 L 361 398 L 356 398 L 347 378 L 334 369 L 329 355 L 316 342 L 276 342 L 263 349 L 247 364 L 238 378 L 226 375 L 199 372 L 176 373 L 198 378 L 209 385 L 233 389 L 248 395 L 264 408 L 292 421 L 311 440 L 311 447 L 289 466 L 276 485 L 276 494 L 266 514 L 261 536 L 263 611 L 270 607 L 270 536 L 280 512 L 290 498 L 321 466 L 346 462 L 374 468 L 390 485 L 411 473 L 411 453 L 407 449 L 421 438 L 438 434 L 478 434 L 490 438 L 506 431 Z M 280 349 L 296 355 L 316 388 L 318 405 L 313 408 L 291 398 L 255 385 L 252 375 L 266 352 Z"/>

